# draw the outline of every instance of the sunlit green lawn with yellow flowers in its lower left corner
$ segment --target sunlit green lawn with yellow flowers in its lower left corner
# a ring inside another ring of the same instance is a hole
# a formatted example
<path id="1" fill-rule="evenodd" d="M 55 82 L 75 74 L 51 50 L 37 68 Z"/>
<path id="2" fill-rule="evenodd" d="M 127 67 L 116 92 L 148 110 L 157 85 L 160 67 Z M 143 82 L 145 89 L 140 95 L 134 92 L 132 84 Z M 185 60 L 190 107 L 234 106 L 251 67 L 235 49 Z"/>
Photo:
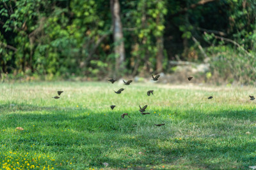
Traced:
<path id="1" fill-rule="evenodd" d="M 113 92 L 122 87 L 122 94 Z M 57 90 L 64 93 L 52 99 Z M 256 100 L 248 97 L 255 92 L 153 83 L 3 83 L 0 169 L 247 169 L 256 166 Z M 140 115 L 145 104 L 150 115 Z M 166 125 L 154 126 L 161 123 Z"/>

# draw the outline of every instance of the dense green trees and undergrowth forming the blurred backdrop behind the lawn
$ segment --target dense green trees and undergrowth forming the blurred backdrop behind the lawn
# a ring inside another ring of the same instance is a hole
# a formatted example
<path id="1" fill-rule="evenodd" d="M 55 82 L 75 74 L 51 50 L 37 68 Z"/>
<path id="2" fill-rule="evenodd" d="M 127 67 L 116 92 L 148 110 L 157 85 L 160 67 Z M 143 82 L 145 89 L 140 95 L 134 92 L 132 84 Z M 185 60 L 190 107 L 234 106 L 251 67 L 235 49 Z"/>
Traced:
<path id="1" fill-rule="evenodd" d="M 169 60 L 209 58 L 212 74 L 230 80 L 246 77 L 242 83 L 255 80 L 256 1 L 119 2 L 122 74 L 169 72 Z M 113 76 L 111 17 L 110 2 L 104 0 L 2 0 L 0 71 L 48 79 Z"/>

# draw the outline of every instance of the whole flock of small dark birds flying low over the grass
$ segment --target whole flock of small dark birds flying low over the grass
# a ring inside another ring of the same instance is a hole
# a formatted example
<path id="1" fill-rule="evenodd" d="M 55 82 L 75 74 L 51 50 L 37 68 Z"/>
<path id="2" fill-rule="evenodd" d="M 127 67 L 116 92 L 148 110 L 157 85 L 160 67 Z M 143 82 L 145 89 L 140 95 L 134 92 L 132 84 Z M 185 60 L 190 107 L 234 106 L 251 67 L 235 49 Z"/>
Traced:
<path id="1" fill-rule="evenodd" d="M 153 74 L 152 74 L 152 80 L 153 80 L 153 81 L 157 81 L 159 77 L 160 77 L 159 74 L 156 75 L 156 76 L 153 76 Z M 193 78 L 193 77 L 188 77 L 188 80 L 190 81 L 190 80 L 192 80 L 192 78 Z M 114 80 L 113 78 L 111 78 L 111 79 L 109 79 L 108 81 L 110 81 L 110 82 L 113 84 L 113 83 L 115 83 L 116 80 Z M 123 81 L 124 81 L 124 80 L 123 80 Z M 125 84 L 125 85 L 130 85 L 131 83 L 132 83 L 132 80 L 129 80 L 129 81 L 126 81 L 126 82 L 124 81 L 124 84 Z M 117 90 L 117 91 L 114 90 L 114 92 L 115 92 L 116 94 L 121 94 L 122 91 L 124 91 L 124 88 L 121 88 L 121 89 L 119 89 L 119 90 Z M 150 96 L 150 94 L 152 94 L 152 95 L 154 96 L 153 92 L 154 92 L 154 90 L 148 90 L 148 91 L 147 91 L 147 96 Z M 54 99 L 60 99 L 61 93 L 63 93 L 63 91 L 57 91 L 58 96 L 54 96 L 54 97 L 52 97 L 52 98 L 54 98 Z M 212 96 L 208 97 L 208 99 L 212 99 Z M 250 100 L 254 100 L 254 99 L 255 99 L 255 98 L 254 98 L 253 96 L 250 96 Z M 141 108 L 141 106 L 140 106 L 140 113 L 141 113 L 141 115 L 149 115 L 149 114 L 150 114 L 150 113 L 148 113 L 148 112 L 147 112 L 147 113 L 145 112 L 146 109 L 147 109 L 147 106 L 148 106 L 148 105 L 145 105 L 145 106 L 143 106 L 143 108 Z M 115 105 L 111 105 L 110 108 L 111 108 L 111 110 L 113 110 L 113 109 L 115 108 Z M 122 118 L 124 118 L 125 116 L 129 117 L 128 113 L 123 113 L 123 114 L 121 115 Z M 129 117 L 129 118 L 131 118 L 131 117 Z M 156 126 L 162 126 L 162 125 L 165 125 L 165 124 L 154 124 L 154 125 L 156 125 Z"/>

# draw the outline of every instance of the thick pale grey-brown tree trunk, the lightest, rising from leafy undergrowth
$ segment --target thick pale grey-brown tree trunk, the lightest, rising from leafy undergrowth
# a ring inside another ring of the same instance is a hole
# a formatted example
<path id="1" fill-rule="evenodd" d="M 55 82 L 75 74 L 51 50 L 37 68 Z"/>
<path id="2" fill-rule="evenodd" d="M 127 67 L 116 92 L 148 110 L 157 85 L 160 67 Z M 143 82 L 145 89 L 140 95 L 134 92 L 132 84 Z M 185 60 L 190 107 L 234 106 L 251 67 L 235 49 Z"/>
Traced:
<path id="1" fill-rule="evenodd" d="M 118 0 L 110 0 L 111 13 L 112 13 L 112 24 L 113 24 L 113 37 L 115 45 L 116 55 L 116 76 L 125 69 L 125 50 L 124 50 L 124 36 L 122 22 L 120 18 L 120 4 Z"/>

